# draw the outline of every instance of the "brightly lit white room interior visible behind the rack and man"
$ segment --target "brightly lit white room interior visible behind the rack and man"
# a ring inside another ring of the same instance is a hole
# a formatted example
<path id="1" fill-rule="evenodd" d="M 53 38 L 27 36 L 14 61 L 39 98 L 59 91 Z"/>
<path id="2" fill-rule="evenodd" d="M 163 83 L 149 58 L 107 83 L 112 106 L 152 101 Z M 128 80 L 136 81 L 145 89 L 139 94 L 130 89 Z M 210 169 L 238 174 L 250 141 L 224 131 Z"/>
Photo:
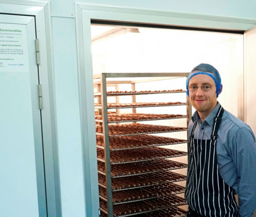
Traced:
<path id="1" fill-rule="evenodd" d="M 243 34 L 223 33 L 221 31 L 212 32 L 210 30 L 178 30 L 145 26 L 131 27 L 131 25 L 100 25 L 96 23 L 91 25 L 91 34 L 93 74 L 117 73 L 118 76 L 118 74 L 121 73 L 189 73 L 191 69 L 199 63 L 210 63 L 219 70 L 225 90 L 218 101 L 220 101 L 222 106 L 226 107 L 227 110 L 231 111 L 235 116 L 238 116 L 240 105 L 237 95 L 243 85 L 239 82 L 239 78 L 243 75 Z M 179 84 L 177 84 L 177 82 L 179 82 Z M 170 80 L 158 81 L 156 83 L 151 82 L 150 85 L 147 86 L 147 83 L 143 84 L 141 87 L 142 91 L 150 90 L 154 92 L 156 88 L 162 90 L 164 87 L 164 90 L 174 90 L 175 87 L 176 89 L 182 87 L 184 90 L 185 80 L 177 80 L 175 81 L 175 84 L 170 82 Z M 118 86 L 117 89 L 119 91 L 123 90 L 123 86 L 124 84 Z M 127 89 L 125 88 L 127 88 L 127 86 L 124 87 L 123 91 L 127 92 Z M 139 89 L 139 91 L 141 91 L 141 89 Z M 137 88 L 136 91 L 138 91 Z M 160 100 L 161 102 L 168 100 L 164 98 L 164 95 L 161 97 L 162 99 L 158 98 L 155 100 Z M 144 95 L 144 98 L 136 98 L 136 102 L 137 99 L 144 102 L 144 100 L 147 101 L 152 98 L 153 96 L 150 96 L 149 99 L 147 98 L 147 95 Z M 181 98 L 177 101 L 179 100 L 181 100 Z M 111 103 L 113 102 L 111 101 Z M 130 101 L 129 99 L 125 99 L 121 102 L 120 98 L 119 103 L 129 105 Z M 168 108 L 165 113 L 170 112 L 170 109 L 171 108 Z M 145 110 L 148 112 L 147 108 L 145 108 Z M 181 112 L 179 110 L 181 110 L 181 108 L 176 107 L 176 110 L 174 108 L 172 111 L 175 113 Z M 156 110 L 155 112 L 158 111 Z M 125 111 L 120 111 L 120 113 L 127 115 L 125 114 Z M 186 126 L 186 123 L 184 124 L 183 120 L 178 120 L 175 123 L 175 126 Z M 162 122 L 162 124 L 167 124 L 169 126 L 174 123 Z M 177 134 L 178 135 L 175 135 L 175 138 L 186 138 L 186 135 L 183 135 L 182 137 L 179 133 Z M 163 136 L 165 136 L 164 138 L 168 137 L 166 135 Z M 97 139 L 97 144 L 98 141 L 99 139 Z M 176 146 L 170 145 L 165 148 L 187 151 L 186 146 L 187 144 L 179 144 Z M 99 150 L 97 151 L 100 152 Z M 135 153 L 133 154 L 135 155 Z M 114 156 L 114 154 L 112 156 Z M 178 159 L 175 158 L 174 161 L 186 164 L 187 158 L 179 157 Z M 186 175 L 186 169 L 178 169 L 174 171 L 175 173 Z M 99 173 L 101 173 L 101 171 Z M 102 178 L 100 174 L 99 177 Z M 100 178 L 99 186 L 102 184 Z M 147 180 L 150 182 L 149 179 Z M 179 187 L 185 187 L 186 182 L 178 182 L 178 184 Z M 115 186 L 113 188 L 115 189 Z M 104 209 L 105 205 L 101 200 L 102 198 L 105 198 L 106 195 L 101 187 L 99 187 L 99 189 L 101 209 L 103 212 L 106 212 Z M 124 195 L 125 194 L 129 193 L 124 193 Z M 117 200 L 116 197 L 117 195 L 115 195 L 114 201 Z M 182 208 L 187 209 L 186 206 Z M 115 207 L 115 209 L 117 208 Z M 112 207 L 109 207 L 108 209 L 108 212 L 111 212 L 109 210 L 112 210 Z"/>

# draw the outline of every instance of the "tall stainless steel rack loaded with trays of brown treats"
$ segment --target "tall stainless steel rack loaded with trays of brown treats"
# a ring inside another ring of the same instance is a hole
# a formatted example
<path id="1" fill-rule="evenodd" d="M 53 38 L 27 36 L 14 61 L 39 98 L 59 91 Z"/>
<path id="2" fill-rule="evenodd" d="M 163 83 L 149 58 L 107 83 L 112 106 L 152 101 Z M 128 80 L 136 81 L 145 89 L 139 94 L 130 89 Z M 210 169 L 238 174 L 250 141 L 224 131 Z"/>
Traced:
<path id="1" fill-rule="evenodd" d="M 137 122 L 191 118 L 191 105 L 186 102 L 137 103 L 136 95 L 180 93 L 186 91 L 136 91 L 136 84 L 186 77 L 188 73 L 102 73 L 94 75 L 95 123 L 99 174 L 101 216 L 185 216 L 176 206 L 184 199 L 184 187 L 174 182 L 186 176 L 171 170 L 187 164 L 168 158 L 186 156 L 185 151 L 166 149 L 166 145 L 187 143 L 185 139 L 157 136 L 156 133 L 187 131 L 187 127 L 141 124 Z M 117 78 L 119 78 L 117 80 Z M 126 79 L 124 79 L 126 78 Z M 119 85 L 130 84 L 131 90 L 119 91 Z M 114 86 L 115 91 L 108 91 Z M 131 95 L 132 102 L 120 104 L 121 96 Z M 108 103 L 114 97 L 115 103 Z M 145 107 L 186 106 L 186 114 L 144 114 Z M 131 108 L 130 114 L 120 109 Z M 109 110 L 116 112 L 108 112 Z M 129 123 L 130 122 L 130 123 Z M 154 135 L 153 135 L 154 134 Z M 161 146 L 161 147 L 159 147 Z M 143 207 L 143 208 L 142 208 Z M 161 214 L 161 215 L 160 215 Z"/>

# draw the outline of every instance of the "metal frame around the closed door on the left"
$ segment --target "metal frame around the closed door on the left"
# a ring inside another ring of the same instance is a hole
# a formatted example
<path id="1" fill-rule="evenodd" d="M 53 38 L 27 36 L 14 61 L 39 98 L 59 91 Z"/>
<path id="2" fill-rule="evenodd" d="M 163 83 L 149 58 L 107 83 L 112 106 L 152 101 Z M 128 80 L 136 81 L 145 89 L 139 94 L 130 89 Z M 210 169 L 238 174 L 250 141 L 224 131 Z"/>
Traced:
<path id="1" fill-rule="evenodd" d="M 62 216 L 54 105 L 50 3 L 46 1 L 0 0 L 0 13 L 35 17 L 36 39 L 39 39 L 40 49 L 38 70 L 42 86 L 41 125 L 44 143 L 47 216 Z M 36 175 L 38 176 L 38 174 Z"/>

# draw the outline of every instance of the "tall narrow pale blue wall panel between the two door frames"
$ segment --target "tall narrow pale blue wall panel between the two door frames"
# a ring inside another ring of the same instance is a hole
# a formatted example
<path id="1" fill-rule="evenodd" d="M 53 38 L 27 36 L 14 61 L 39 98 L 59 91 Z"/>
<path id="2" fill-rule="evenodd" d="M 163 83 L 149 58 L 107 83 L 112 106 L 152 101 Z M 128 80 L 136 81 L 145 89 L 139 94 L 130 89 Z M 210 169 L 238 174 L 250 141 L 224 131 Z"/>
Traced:
<path id="1" fill-rule="evenodd" d="M 60 192 L 63 216 L 85 216 L 75 20 L 52 17 Z"/>

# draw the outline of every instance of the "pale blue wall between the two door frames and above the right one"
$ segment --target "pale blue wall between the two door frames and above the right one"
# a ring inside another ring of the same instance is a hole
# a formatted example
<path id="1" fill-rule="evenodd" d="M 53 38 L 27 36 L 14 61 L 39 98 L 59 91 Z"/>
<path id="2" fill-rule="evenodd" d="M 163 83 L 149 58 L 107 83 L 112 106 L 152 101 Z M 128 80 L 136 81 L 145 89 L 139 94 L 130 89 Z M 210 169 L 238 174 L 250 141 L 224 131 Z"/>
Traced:
<path id="1" fill-rule="evenodd" d="M 51 0 L 57 131 L 63 217 L 86 216 L 80 138 L 75 1 Z M 81 0 L 117 7 L 256 18 L 256 1 L 246 0 Z"/>

